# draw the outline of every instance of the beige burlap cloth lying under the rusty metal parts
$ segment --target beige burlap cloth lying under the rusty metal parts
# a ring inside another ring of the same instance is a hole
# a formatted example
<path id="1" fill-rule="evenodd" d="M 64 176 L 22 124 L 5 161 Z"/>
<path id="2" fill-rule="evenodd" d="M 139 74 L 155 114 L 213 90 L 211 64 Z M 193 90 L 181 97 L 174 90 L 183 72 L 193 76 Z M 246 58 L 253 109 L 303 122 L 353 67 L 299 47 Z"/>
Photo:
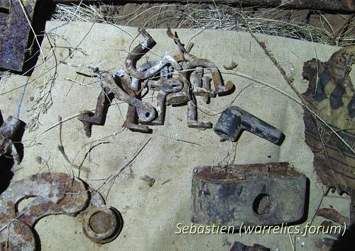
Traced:
<path id="1" fill-rule="evenodd" d="M 92 23 L 48 22 L 46 30 L 52 45 L 55 46 L 57 62 L 65 60 L 72 64 L 99 66 L 102 69 L 123 68 L 124 59 L 133 40 L 132 36 L 135 37 L 137 34 L 136 28 L 105 24 L 92 26 Z M 192 54 L 197 57 L 212 60 L 220 68 L 222 65 L 230 65 L 232 61 L 236 62 L 238 64 L 234 69 L 236 72 L 261 79 L 295 96 L 278 69 L 249 33 L 222 30 L 200 32 L 200 30 L 187 29 L 176 31 L 182 43 L 187 43 L 190 38 L 193 38 Z M 164 55 L 164 52 L 172 54 L 178 52 L 178 48 L 173 40 L 168 38 L 165 30 L 148 30 L 148 32 L 157 42 L 153 53 L 149 53 L 151 60 L 158 55 Z M 285 71 L 293 74 L 295 87 L 300 92 L 307 89 L 307 82 L 302 80 L 303 62 L 315 57 L 315 52 L 318 59 L 328 60 L 329 56 L 338 50 L 337 47 L 328 45 L 270 35 L 258 35 L 258 38 L 266 43 Z M 138 40 L 133 42 L 131 48 L 136 46 Z M 76 50 L 71 57 L 66 58 L 70 50 L 75 50 L 75 47 L 80 50 Z M 37 172 L 48 172 L 48 169 L 50 172 L 66 172 L 66 169 L 72 169 L 58 150 L 58 126 L 41 133 L 58 122 L 58 115 L 65 119 L 79 111 L 94 108 L 99 94 L 99 84 L 92 83 L 97 79 L 77 76 L 77 71 L 89 74 L 87 70 L 80 67 L 74 68 L 61 64 L 50 70 L 45 75 L 45 80 L 43 77 L 38 77 L 46 69 L 55 65 L 55 57 L 50 52 L 47 38 L 43 40 L 42 50 L 47 55 L 45 67 L 40 65 L 40 57 L 39 66 L 29 77 L 26 89 L 24 85 L 27 77 L 12 74 L 9 78 L 1 79 L 0 103 L 4 117 L 17 114 L 18 103 L 24 91 L 19 118 L 29 123 L 35 116 L 31 108 L 38 106 L 35 101 L 41 95 L 40 88 L 44 83 L 48 83 L 46 89 L 49 89 L 48 79 L 55 75 L 55 70 L 57 74 L 51 89 L 53 105 L 47 113 L 40 114 L 39 128 L 31 132 L 26 130 L 23 136 L 25 157 L 19 166 L 13 167 L 13 179 L 16 180 Z M 82 123 L 77 118 L 73 118 L 62 124 L 62 142 L 70 160 L 75 159 L 75 164 L 82 162 L 91 146 L 90 142 L 111 135 L 102 140 L 109 143 L 95 147 L 89 158 L 84 161 L 81 177 L 92 186 L 102 182 L 94 179 L 105 178 L 120 169 L 149 138 L 151 141 L 138 155 L 130 169 L 126 169 L 125 173 L 116 179 L 107 196 L 107 204 L 119 209 L 124 217 L 124 229 L 121 235 L 114 242 L 100 246 L 84 236 L 78 219 L 70 216 L 48 216 L 36 226 L 42 250 L 229 250 L 235 240 L 246 244 L 260 243 L 271 247 L 272 250 L 292 250 L 290 237 L 283 234 L 253 234 L 240 237 L 236 234 L 178 235 L 174 233 L 178 230 L 177 223 L 190 224 L 192 168 L 199 165 L 226 164 L 233 160 L 234 152 L 236 164 L 285 161 L 307 175 L 310 179 L 308 221 L 312 220 L 322 198 L 322 185 L 317 182 L 312 167 L 313 155 L 305 144 L 302 107 L 285 94 L 250 79 L 234 74 L 223 74 L 223 77 L 225 81 L 231 80 L 236 84 L 236 91 L 229 96 L 212 99 L 209 105 L 203 104 L 200 99 L 201 109 L 212 115 L 208 116 L 200 111 L 200 119 L 216 123 L 219 117 L 217 113 L 234 101 L 234 105 L 283 130 L 286 135 L 283 145 L 280 147 L 273 145 L 247 132 L 241 135 L 238 143 L 221 143 L 213 130 L 187 128 L 187 106 L 168 107 L 165 125 L 152 127 L 151 135 L 133 133 L 129 130 L 121 132 L 121 125 L 126 116 L 126 104 L 111 106 L 106 124 L 94 126 L 92 138 L 85 137 Z M 68 79 L 74 79 L 76 82 Z M 84 84 L 80 84 L 81 82 Z M 114 133 L 116 135 L 113 135 Z M 98 142 L 92 145 L 96 143 Z M 73 170 L 77 174 L 77 169 Z M 140 176 L 144 175 L 155 179 L 152 187 L 140 179 Z M 108 189 L 109 186 L 104 186 L 100 191 L 106 196 Z M 348 215 L 347 198 L 325 197 L 323 205 L 332 205 L 340 213 Z M 322 219 L 315 218 L 313 224 L 317 225 L 321 221 Z M 315 235 L 306 237 L 296 235 L 292 238 L 295 238 L 296 249 L 300 248 L 302 242 L 305 242 L 302 250 L 315 248 L 312 244 Z"/>

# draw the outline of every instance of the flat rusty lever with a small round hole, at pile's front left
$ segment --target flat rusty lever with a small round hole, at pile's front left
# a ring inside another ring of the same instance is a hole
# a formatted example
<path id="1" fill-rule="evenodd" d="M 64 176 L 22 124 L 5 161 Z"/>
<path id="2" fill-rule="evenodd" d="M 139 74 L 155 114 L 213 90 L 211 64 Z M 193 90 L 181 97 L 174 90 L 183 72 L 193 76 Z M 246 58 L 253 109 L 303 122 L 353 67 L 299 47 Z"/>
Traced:
<path id="1" fill-rule="evenodd" d="M 111 89 L 111 91 L 114 93 L 116 99 L 136 107 L 138 118 L 141 121 L 148 122 L 155 118 L 155 109 L 153 106 L 151 106 L 151 104 L 143 102 L 127 94 L 123 89 L 119 87 L 118 84 L 116 84 L 114 78 L 109 72 L 104 72 L 101 74 L 101 76 L 104 78 L 104 81 L 107 83 L 109 89 Z M 121 78 L 119 78 L 119 81 L 121 81 Z"/>

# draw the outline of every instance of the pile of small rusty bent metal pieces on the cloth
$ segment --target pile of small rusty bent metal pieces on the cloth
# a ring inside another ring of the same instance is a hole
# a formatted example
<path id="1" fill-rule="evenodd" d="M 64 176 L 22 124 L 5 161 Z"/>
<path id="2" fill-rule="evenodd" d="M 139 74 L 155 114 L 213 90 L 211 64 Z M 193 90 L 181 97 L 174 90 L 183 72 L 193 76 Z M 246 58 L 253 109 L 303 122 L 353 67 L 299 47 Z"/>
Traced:
<path id="1" fill-rule="evenodd" d="M 168 29 L 168 36 L 172 38 L 180 53 L 164 57 L 154 62 L 146 62 L 137 67 L 138 60 L 151 50 L 155 40 L 143 28 L 138 29 L 144 42 L 136 46 L 126 58 L 126 69 L 116 74 L 104 72 L 95 68 L 92 70 L 101 79 L 103 86 L 99 94 L 97 108 L 94 113 L 82 111 L 80 121 L 84 124 L 87 137 L 91 136 L 92 125 L 104 125 L 107 108 L 112 98 L 129 104 L 124 126 L 132 131 L 149 133 L 148 125 L 163 125 L 165 108 L 167 105 L 177 106 L 187 104 L 187 126 L 190 128 L 212 128 L 209 121 L 198 121 L 196 96 L 204 96 L 209 103 L 211 98 L 223 96 L 234 91 L 234 84 L 224 84 L 222 75 L 214 63 L 207 59 L 191 55 L 180 42 L 178 35 Z M 212 75 L 204 76 L 204 69 Z M 195 72 L 193 82 L 190 82 L 192 72 Z M 174 77 L 178 75 L 178 77 Z M 214 89 L 211 87 L 214 84 Z M 153 107 L 142 101 L 143 89 L 158 91 L 156 106 Z"/>

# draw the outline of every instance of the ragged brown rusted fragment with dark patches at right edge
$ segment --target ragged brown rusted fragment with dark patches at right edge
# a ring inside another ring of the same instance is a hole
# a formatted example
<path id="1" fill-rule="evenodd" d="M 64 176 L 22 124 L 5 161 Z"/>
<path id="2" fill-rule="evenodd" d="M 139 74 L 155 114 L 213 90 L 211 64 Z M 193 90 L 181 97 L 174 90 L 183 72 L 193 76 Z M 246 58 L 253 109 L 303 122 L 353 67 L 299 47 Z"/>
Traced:
<path id="1" fill-rule="evenodd" d="M 355 62 L 355 45 L 346 46 L 327 62 L 312 59 L 303 65 L 309 81 L 303 94 L 309 106 L 337 135 L 305 109 L 305 142 L 313 152 L 320 181 L 339 193 L 355 190 L 355 91 L 349 72 Z M 353 150 L 344 144 L 344 140 Z"/>

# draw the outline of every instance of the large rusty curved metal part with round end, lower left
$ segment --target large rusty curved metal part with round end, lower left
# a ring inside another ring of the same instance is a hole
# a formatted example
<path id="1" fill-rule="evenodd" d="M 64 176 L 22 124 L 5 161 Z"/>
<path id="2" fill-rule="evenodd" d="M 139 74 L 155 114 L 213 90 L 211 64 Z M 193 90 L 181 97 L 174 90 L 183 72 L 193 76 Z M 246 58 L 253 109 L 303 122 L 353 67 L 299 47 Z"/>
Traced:
<path id="1" fill-rule="evenodd" d="M 20 209 L 21 201 L 31 197 L 34 199 Z M 123 228 L 119 211 L 106 206 L 97 191 L 88 189 L 82 180 L 68 174 L 35 174 L 11 182 L 0 196 L 1 247 L 8 245 L 9 250 L 37 250 L 34 237 L 38 234 L 34 227 L 40 218 L 53 214 L 77 216 L 81 211 L 84 214 L 84 233 L 94 242 L 110 242 Z"/>

